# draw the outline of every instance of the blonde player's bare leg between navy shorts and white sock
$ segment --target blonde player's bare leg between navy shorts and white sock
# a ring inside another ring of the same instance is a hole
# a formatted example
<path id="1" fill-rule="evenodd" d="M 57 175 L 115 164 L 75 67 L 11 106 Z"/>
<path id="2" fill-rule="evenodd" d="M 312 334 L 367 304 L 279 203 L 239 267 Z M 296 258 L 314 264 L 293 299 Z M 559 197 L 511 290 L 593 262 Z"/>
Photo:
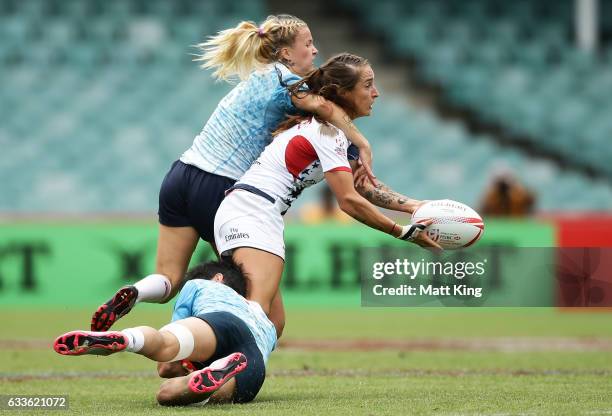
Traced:
<path id="1" fill-rule="evenodd" d="M 166 302 L 176 295 L 199 238 L 193 227 L 167 227 L 159 224 L 155 272 L 166 276 L 172 283 L 172 291 L 166 297 Z"/>

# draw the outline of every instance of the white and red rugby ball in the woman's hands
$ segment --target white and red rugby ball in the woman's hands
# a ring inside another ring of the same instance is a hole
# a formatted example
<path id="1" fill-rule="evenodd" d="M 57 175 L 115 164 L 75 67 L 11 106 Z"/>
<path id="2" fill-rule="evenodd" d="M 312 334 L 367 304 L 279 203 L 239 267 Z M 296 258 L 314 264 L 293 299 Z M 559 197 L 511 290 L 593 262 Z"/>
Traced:
<path id="1" fill-rule="evenodd" d="M 432 219 L 425 231 L 445 250 L 469 247 L 482 236 L 484 222 L 476 211 L 450 199 L 429 201 L 412 214 L 412 222 Z"/>

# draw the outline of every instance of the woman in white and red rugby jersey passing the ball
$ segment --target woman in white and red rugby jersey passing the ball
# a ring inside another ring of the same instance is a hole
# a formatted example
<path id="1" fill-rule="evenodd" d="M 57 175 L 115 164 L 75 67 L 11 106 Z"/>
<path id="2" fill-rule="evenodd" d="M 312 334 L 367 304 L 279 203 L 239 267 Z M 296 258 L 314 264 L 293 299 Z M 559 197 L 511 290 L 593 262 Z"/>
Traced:
<path id="1" fill-rule="evenodd" d="M 378 97 L 374 72 L 364 58 L 341 54 L 328 60 L 291 87 L 335 102 L 352 119 L 370 115 Z M 215 241 L 222 256 L 231 255 L 249 277 L 249 298 L 270 312 L 279 299 L 284 267 L 283 215 L 301 192 L 325 179 L 340 208 L 365 225 L 421 246 L 441 249 L 423 224 L 398 225 L 374 205 L 412 212 L 421 201 L 397 194 L 378 183 L 354 185 L 358 150 L 342 131 L 316 116 L 293 116 L 249 170 L 230 188 L 215 217 Z M 282 309 L 277 309 L 282 310 Z M 274 319 L 273 319 L 274 318 Z M 280 336 L 284 315 L 270 318 Z"/>

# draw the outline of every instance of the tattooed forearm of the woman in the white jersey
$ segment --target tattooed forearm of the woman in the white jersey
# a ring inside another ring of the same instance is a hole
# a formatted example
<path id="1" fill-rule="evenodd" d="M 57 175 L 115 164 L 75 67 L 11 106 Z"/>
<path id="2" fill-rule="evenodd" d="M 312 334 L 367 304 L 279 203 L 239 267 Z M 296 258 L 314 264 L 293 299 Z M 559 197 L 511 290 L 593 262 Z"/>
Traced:
<path id="1" fill-rule="evenodd" d="M 423 201 L 412 199 L 395 192 L 381 181 L 377 181 L 378 183 L 373 185 L 368 181 L 359 180 L 358 169 L 360 168 L 357 167 L 355 161 L 351 161 L 350 163 L 353 172 L 355 172 L 355 190 L 359 195 L 363 196 L 377 207 L 412 214 L 421 204 L 423 204 Z"/>

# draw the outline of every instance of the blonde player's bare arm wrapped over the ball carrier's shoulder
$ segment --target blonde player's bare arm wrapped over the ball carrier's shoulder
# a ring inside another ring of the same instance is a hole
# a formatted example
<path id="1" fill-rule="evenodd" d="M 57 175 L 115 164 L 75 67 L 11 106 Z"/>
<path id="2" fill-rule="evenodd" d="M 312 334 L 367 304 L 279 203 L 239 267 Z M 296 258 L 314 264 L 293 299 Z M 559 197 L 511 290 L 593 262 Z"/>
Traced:
<path id="1" fill-rule="evenodd" d="M 376 176 L 372 173 L 372 148 L 370 142 L 361 134 L 353 120 L 340 106 L 320 95 L 314 94 L 293 94 L 291 101 L 300 110 L 314 113 L 342 130 L 351 143 L 359 148 L 359 156 L 366 174 L 370 182 L 376 183 Z"/>

